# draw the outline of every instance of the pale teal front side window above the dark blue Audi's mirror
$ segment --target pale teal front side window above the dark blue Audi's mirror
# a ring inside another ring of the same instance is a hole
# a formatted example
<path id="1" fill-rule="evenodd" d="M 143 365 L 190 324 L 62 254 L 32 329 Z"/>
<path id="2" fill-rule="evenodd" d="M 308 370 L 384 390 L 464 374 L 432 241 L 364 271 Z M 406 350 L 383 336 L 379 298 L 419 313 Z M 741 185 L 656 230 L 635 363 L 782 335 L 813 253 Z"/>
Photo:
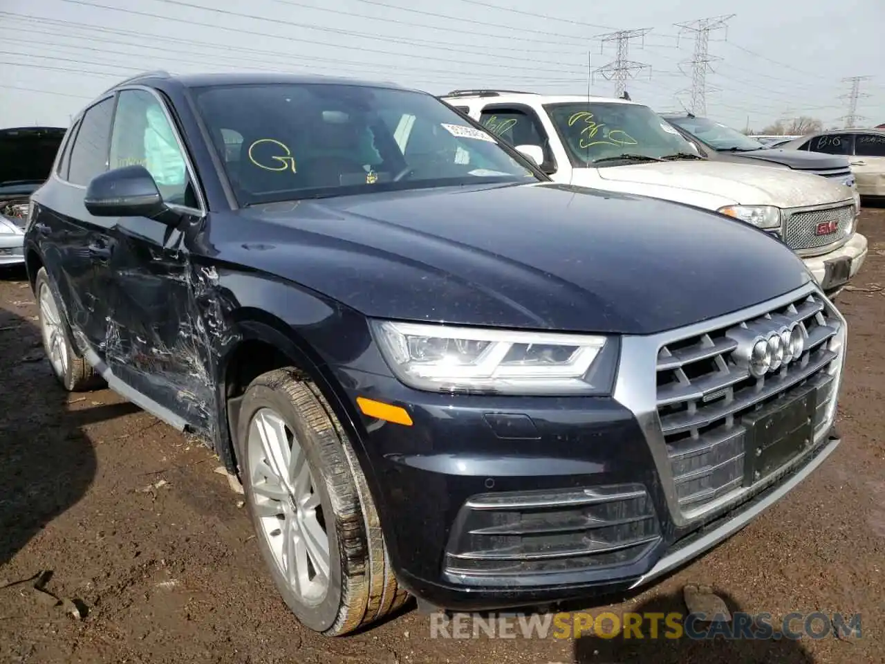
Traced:
<path id="1" fill-rule="evenodd" d="M 150 92 L 119 93 L 110 162 L 111 168 L 144 166 L 166 203 L 196 207 L 181 147 L 163 105 Z"/>

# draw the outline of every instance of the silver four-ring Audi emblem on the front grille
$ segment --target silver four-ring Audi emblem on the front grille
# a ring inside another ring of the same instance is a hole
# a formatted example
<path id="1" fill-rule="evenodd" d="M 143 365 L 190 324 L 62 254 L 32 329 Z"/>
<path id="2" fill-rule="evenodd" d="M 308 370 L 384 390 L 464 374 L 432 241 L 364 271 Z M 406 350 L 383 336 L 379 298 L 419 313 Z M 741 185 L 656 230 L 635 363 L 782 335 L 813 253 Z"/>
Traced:
<path id="1" fill-rule="evenodd" d="M 772 321 L 766 321 L 771 324 Z M 735 364 L 759 378 L 770 374 L 795 359 L 805 350 L 805 329 L 799 323 L 759 332 L 755 328 L 733 328 L 727 336 L 737 342 L 732 353 Z"/>

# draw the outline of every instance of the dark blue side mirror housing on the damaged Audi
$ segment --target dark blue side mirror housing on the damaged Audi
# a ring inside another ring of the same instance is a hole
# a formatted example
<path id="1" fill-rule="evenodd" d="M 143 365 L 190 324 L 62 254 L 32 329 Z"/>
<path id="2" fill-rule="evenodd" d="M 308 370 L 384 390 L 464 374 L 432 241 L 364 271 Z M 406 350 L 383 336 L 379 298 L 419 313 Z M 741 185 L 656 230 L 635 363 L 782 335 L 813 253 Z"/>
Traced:
<path id="1" fill-rule="evenodd" d="M 96 217 L 157 218 L 168 209 L 144 166 L 123 166 L 96 175 L 86 189 L 84 204 Z"/>

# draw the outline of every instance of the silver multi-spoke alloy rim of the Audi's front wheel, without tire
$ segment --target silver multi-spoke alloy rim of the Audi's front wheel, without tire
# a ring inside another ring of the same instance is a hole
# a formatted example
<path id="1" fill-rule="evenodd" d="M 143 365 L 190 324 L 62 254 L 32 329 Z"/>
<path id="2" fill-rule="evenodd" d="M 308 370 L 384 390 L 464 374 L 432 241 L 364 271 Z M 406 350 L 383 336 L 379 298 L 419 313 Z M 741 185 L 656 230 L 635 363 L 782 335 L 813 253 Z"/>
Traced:
<path id="1" fill-rule="evenodd" d="M 328 588 L 329 539 L 304 450 L 270 408 L 252 417 L 246 444 L 259 534 L 296 597 L 316 604 Z"/>

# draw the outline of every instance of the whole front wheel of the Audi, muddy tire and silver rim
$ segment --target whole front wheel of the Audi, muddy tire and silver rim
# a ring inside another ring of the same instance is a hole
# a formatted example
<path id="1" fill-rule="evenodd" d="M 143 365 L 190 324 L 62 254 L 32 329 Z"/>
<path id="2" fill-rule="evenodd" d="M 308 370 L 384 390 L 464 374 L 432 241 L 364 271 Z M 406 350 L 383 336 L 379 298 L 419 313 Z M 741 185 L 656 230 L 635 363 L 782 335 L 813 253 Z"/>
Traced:
<path id="1" fill-rule="evenodd" d="M 294 369 L 242 398 L 241 480 L 258 545 L 305 626 L 339 636 L 402 606 L 366 478 L 325 398 Z"/>

